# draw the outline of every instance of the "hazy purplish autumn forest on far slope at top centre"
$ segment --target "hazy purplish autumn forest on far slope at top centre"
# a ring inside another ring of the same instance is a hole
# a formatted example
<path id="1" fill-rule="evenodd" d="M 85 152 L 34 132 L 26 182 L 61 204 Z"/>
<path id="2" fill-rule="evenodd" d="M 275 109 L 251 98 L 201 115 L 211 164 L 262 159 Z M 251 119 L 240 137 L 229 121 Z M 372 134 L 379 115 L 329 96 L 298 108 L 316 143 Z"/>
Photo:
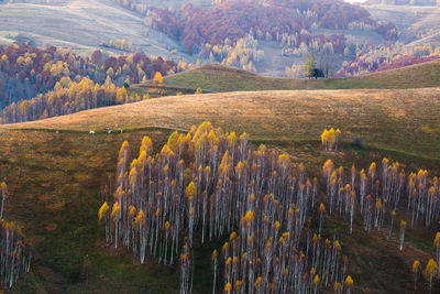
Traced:
<path id="1" fill-rule="evenodd" d="M 258 42 L 276 42 L 282 56 L 311 52 L 348 56 L 360 48 L 352 48 L 340 31 L 372 32 L 386 41 L 398 35 L 393 23 L 377 22 L 366 9 L 340 0 L 224 0 L 210 8 L 187 3 L 182 9 L 154 8 L 140 0 L 117 2 L 145 15 L 147 26 L 179 41 L 199 59 L 251 70 L 264 58 Z"/>

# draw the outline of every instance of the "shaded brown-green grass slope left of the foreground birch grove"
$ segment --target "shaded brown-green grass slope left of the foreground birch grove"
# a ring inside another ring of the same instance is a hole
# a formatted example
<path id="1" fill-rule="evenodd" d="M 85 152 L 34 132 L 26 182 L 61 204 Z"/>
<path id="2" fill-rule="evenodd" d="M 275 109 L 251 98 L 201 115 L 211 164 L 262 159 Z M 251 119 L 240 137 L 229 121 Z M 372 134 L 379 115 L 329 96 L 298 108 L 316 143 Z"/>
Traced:
<path id="1" fill-rule="evenodd" d="M 150 130 L 155 146 L 168 131 Z M 11 198 L 7 218 L 23 227 L 33 247 L 30 274 L 18 293 L 164 293 L 177 288 L 174 268 L 133 263 L 130 254 L 105 244 L 97 221 L 100 187 L 114 172 L 118 149 L 128 140 L 135 150 L 146 131 L 118 135 L 76 132 L 12 131 L 0 137 L 0 177 Z M 91 283 L 80 270 L 86 254 Z"/>

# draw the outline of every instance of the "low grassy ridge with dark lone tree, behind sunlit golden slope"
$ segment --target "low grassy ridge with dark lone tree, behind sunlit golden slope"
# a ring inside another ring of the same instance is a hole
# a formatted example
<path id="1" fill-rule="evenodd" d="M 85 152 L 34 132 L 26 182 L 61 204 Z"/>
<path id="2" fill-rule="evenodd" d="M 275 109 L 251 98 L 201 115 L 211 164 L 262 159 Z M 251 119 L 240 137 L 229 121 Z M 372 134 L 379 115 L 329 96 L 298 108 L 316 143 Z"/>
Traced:
<path id="1" fill-rule="evenodd" d="M 264 77 L 233 67 L 204 65 L 180 74 L 167 76 L 165 84 L 188 88 L 201 87 L 210 91 L 439 87 L 440 61 L 360 77 L 319 80 Z"/>

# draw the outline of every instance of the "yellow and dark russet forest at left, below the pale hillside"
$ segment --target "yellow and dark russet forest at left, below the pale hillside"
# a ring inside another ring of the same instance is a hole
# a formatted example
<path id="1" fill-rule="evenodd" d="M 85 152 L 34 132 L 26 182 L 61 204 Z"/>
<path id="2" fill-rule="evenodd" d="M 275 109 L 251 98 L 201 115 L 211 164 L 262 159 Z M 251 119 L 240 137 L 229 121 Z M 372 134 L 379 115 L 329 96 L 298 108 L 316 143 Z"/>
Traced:
<path id="1" fill-rule="evenodd" d="M 180 70 L 173 61 L 143 53 L 91 56 L 69 50 L 26 44 L 0 45 L 0 106 L 3 123 L 73 113 L 79 110 L 139 101 L 125 88 Z"/>

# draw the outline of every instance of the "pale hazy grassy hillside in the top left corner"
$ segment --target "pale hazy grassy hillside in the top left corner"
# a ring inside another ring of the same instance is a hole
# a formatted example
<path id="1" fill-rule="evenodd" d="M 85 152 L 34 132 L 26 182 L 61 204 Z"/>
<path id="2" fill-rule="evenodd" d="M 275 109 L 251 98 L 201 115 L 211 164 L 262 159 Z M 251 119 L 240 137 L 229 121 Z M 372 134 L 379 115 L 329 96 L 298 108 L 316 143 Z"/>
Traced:
<path id="1" fill-rule="evenodd" d="M 134 52 L 194 62 L 175 41 L 147 30 L 142 15 L 112 0 L 0 2 L 0 44 L 12 43 L 18 36 L 21 42 L 33 41 L 38 46 L 50 44 L 86 53 L 101 48 L 117 54 L 123 52 L 101 47 L 100 43 L 125 39 L 133 44 Z"/>

